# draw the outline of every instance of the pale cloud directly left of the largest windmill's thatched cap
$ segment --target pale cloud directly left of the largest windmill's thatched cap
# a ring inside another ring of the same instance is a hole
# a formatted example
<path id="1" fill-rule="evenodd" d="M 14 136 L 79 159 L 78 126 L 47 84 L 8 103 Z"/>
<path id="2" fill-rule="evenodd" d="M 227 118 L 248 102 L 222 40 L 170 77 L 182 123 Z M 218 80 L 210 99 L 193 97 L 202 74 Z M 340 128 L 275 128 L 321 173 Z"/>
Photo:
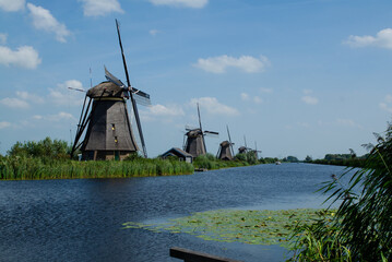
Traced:
<path id="1" fill-rule="evenodd" d="M 78 91 L 69 90 L 73 87 L 78 90 L 85 90 L 83 84 L 78 80 L 68 80 L 64 83 L 60 83 L 56 88 L 49 88 L 48 98 L 56 105 L 72 105 L 80 106 L 83 103 L 83 94 Z"/>

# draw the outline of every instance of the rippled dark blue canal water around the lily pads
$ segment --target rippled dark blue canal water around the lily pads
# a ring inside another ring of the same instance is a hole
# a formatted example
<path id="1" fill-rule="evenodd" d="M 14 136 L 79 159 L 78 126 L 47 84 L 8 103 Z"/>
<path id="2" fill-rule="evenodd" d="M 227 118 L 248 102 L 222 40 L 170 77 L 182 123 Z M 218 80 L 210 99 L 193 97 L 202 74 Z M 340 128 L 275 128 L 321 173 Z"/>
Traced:
<path id="1" fill-rule="evenodd" d="M 170 247 L 242 261 L 284 261 L 285 249 L 121 229 L 217 209 L 320 207 L 313 193 L 342 167 L 260 165 L 191 176 L 0 181 L 0 261 L 179 261 Z"/>

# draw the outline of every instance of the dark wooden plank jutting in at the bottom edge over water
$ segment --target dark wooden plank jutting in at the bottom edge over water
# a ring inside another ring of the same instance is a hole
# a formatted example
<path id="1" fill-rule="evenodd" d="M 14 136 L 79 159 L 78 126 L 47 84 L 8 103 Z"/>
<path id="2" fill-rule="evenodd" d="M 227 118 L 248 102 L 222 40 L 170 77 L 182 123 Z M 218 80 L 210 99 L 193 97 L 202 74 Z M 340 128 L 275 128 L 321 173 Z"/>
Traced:
<path id="1" fill-rule="evenodd" d="M 241 262 L 177 247 L 170 248 L 170 257 L 185 262 Z"/>

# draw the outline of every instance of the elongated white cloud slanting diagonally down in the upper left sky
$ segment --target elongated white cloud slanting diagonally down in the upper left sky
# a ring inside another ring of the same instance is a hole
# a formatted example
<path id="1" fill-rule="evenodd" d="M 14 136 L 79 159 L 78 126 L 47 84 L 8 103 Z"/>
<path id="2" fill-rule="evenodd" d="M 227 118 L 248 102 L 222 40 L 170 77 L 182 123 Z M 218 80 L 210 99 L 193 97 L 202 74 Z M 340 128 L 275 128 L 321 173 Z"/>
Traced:
<path id="1" fill-rule="evenodd" d="M 33 3 L 27 3 L 31 17 L 33 19 L 33 26 L 37 29 L 43 29 L 56 35 L 56 39 L 66 43 L 66 37 L 71 35 L 64 24 L 59 23 L 50 13 L 49 10 L 41 7 L 36 7 Z"/>

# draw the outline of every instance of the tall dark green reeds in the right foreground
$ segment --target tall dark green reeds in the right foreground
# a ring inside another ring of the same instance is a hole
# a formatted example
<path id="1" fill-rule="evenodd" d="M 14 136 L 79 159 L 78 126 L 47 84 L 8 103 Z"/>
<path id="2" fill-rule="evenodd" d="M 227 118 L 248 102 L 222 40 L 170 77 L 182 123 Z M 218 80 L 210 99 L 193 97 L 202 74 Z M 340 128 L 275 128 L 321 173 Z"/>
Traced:
<path id="1" fill-rule="evenodd" d="M 328 245 L 326 238 L 340 247 L 341 253 L 335 253 L 337 261 L 344 261 L 351 254 L 353 261 L 392 261 L 392 126 L 389 123 L 385 138 L 377 134 L 378 144 L 366 145 L 371 148 L 364 168 L 348 168 L 340 177 L 333 176 L 322 189 L 331 193 L 328 200 L 342 201 L 329 234 L 329 225 L 310 227 L 308 236 L 322 245 Z M 341 181 L 348 176 L 348 186 Z M 321 229 L 320 229 L 321 228 Z M 320 234 L 314 234 L 320 233 Z M 317 250 L 307 245 L 298 245 L 301 253 L 316 255 Z M 341 257 L 340 257 L 340 255 Z M 326 255 L 326 253 L 323 253 Z M 295 257 L 300 261 L 300 257 Z"/>

